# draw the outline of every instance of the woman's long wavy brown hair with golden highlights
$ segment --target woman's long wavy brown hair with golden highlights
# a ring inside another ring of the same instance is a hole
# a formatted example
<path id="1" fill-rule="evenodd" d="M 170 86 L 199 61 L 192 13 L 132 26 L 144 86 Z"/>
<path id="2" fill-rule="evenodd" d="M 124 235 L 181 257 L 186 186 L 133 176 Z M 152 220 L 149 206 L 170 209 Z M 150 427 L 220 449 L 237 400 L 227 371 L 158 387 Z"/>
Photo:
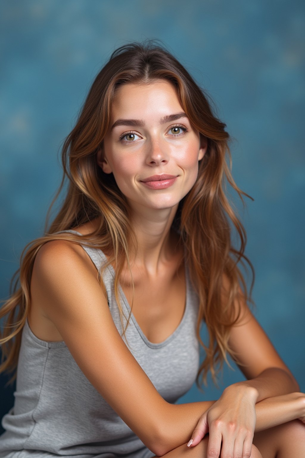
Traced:
<path id="1" fill-rule="evenodd" d="M 107 265 L 114 263 L 116 266 L 114 287 L 123 324 L 123 310 L 119 297 L 120 275 L 125 262 L 131 274 L 128 240 L 134 240 L 134 233 L 128 220 L 127 200 L 119 190 L 113 175 L 105 174 L 97 165 L 96 153 L 109 127 L 115 91 L 120 85 L 128 82 L 143 84 L 160 79 L 171 82 L 191 125 L 200 136 L 205 136 L 208 140 L 207 151 L 199 161 L 198 178 L 179 203 L 173 221 L 180 241 L 186 248 L 186 261 L 199 300 L 196 333 L 205 358 L 196 377 L 198 388 L 202 389 L 200 385 L 206 382 L 208 371 L 211 371 L 214 382 L 217 382 L 216 376 L 224 360 L 228 363 L 227 354 L 236 360 L 236 355 L 228 343 L 230 328 L 241 318 L 241 299 L 246 300 L 248 304 L 254 304 L 251 291 L 255 274 L 251 262 L 244 254 L 246 231 L 237 217 L 237 211 L 233 210 L 235 206 L 229 202 L 225 194 L 227 184 L 238 193 L 243 206 L 245 203 L 242 195 L 250 196 L 241 191 L 232 178 L 230 136 L 225 131 L 226 124 L 212 111 L 213 101 L 178 60 L 162 44 L 155 44 L 155 41 L 127 44 L 112 53 L 96 76 L 76 125 L 63 143 L 64 174 L 48 210 L 44 235 L 28 243 L 23 249 L 20 267 L 11 279 L 10 297 L 2 301 L 0 309 L 0 319 L 7 315 L 3 333 L 0 332 L 0 372 L 13 373 L 10 382 L 16 378 L 21 331 L 30 306 L 33 263 L 37 251 L 44 243 L 59 239 L 72 240 L 111 253 Z M 49 225 L 51 208 L 66 179 L 68 189 L 64 202 L 53 223 Z M 99 218 L 100 224 L 90 234 L 55 234 L 85 224 L 94 218 Z M 239 247 L 233 246 L 232 229 L 240 240 Z M 244 276 L 238 267 L 238 263 L 241 263 L 246 268 L 244 261 L 252 271 L 249 293 Z M 97 278 L 107 296 L 102 275 L 97 273 Z M 131 309 L 132 305 L 133 301 Z M 129 318 L 130 314 L 126 327 Z M 203 322 L 208 330 L 206 342 L 203 342 L 200 336 Z"/>

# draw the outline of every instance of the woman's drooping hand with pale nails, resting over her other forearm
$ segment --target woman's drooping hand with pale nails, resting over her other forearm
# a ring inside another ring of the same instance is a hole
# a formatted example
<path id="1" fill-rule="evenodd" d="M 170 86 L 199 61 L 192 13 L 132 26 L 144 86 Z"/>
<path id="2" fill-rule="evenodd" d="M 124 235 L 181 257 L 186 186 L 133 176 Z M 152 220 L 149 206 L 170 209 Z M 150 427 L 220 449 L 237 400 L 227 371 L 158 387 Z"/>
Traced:
<path id="1" fill-rule="evenodd" d="M 209 432 L 208 456 L 248 458 L 256 425 L 257 395 L 255 388 L 242 383 L 225 388 L 218 401 L 200 417 L 189 447 L 195 447 Z"/>

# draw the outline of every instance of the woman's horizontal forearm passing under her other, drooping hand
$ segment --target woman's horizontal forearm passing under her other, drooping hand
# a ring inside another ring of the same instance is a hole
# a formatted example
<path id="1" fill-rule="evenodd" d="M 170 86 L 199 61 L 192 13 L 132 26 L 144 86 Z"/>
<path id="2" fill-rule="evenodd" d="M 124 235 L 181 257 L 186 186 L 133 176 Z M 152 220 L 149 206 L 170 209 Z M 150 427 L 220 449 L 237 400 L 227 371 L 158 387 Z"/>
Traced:
<path id="1" fill-rule="evenodd" d="M 199 418 L 215 401 L 186 404 L 167 404 L 161 415 L 161 454 L 179 447 L 191 438 Z M 305 394 L 290 393 L 258 402 L 255 406 L 257 423 L 255 431 L 262 431 L 305 415 Z"/>

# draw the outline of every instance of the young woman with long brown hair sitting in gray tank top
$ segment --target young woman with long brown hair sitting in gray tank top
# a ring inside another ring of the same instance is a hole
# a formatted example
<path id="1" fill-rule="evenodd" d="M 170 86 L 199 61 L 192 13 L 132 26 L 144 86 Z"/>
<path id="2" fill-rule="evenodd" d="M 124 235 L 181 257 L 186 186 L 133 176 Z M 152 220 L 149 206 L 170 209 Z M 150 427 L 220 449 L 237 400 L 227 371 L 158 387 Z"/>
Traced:
<path id="1" fill-rule="evenodd" d="M 0 457 L 305 456 L 305 395 L 237 266 L 251 263 L 226 181 L 246 194 L 228 142 L 165 49 L 112 54 L 64 143 L 64 203 L 25 247 L 2 306 L 0 369 L 16 368 L 17 385 Z M 246 381 L 216 402 L 175 404 L 226 354 Z"/>

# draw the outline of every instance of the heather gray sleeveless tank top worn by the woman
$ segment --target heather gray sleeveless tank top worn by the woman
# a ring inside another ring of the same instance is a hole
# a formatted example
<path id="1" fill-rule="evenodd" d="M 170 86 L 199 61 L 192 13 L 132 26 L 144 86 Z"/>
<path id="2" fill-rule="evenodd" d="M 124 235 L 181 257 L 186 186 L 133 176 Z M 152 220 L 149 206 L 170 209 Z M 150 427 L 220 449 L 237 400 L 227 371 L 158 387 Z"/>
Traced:
<path id="1" fill-rule="evenodd" d="M 80 234 L 72 229 L 60 232 Z M 82 246 L 100 270 L 107 261 L 104 253 L 98 248 Z M 159 344 L 150 342 L 133 314 L 126 330 L 131 353 L 169 403 L 175 403 L 191 388 L 199 368 L 198 296 L 187 265 L 185 272 L 185 311 L 182 321 L 166 340 Z M 103 274 L 103 281 L 113 321 L 121 334 L 114 275 L 110 265 Z M 119 290 L 128 318 L 130 307 L 123 290 Z M 126 322 L 123 318 L 124 326 Z M 64 341 L 47 342 L 37 338 L 27 321 L 22 330 L 14 396 L 14 406 L 1 422 L 5 432 L 0 436 L 0 458 L 154 456 L 91 385 Z"/>

